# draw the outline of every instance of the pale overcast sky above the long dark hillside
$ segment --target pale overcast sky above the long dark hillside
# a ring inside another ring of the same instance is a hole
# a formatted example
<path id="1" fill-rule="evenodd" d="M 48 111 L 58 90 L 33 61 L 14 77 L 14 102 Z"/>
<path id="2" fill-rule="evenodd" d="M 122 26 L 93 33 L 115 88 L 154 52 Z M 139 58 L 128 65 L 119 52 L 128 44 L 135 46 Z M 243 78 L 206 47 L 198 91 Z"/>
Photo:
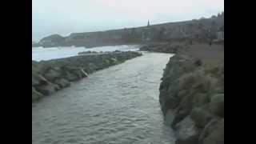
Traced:
<path id="1" fill-rule="evenodd" d="M 224 0 L 32 0 L 32 37 L 209 18 Z"/>

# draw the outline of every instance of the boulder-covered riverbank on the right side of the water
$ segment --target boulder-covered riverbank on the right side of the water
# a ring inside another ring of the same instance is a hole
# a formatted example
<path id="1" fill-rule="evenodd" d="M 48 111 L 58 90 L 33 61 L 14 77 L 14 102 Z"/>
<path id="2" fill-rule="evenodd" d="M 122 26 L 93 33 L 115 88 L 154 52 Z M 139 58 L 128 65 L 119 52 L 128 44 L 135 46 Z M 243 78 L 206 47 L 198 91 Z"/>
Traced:
<path id="1" fill-rule="evenodd" d="M 165 122 L 176 143 L 224 143 L 224 46 L 178 50 L 159 88 Z"/>

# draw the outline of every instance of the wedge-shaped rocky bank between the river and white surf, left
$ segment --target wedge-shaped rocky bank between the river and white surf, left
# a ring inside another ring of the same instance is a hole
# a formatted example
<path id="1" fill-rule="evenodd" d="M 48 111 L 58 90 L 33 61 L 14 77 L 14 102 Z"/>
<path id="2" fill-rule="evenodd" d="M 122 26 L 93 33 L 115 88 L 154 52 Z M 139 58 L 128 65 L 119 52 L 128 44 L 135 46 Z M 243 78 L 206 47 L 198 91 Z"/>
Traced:
<path id="1" fill-rule="evenodd" d="M 49 61 L 32 61 L 32 102 L 70 86 L 71 82 L 86 78 L 102 70 L 142 55 L 138 52 L 79 55 Z"/>

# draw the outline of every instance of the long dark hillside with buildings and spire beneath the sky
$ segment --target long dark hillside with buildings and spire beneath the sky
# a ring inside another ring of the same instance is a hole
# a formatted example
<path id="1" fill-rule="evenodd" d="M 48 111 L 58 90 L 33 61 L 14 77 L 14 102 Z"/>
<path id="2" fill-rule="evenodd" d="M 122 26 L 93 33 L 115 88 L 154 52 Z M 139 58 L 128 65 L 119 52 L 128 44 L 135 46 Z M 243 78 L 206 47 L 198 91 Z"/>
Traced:
<path id="1" fill-rule="evenodd" d="M 53 34 L 38 43 L 50 46 L 110 46 L 144 42 L 170 42 L 178 39 L 215 39 L 217 32 L 224 31 L 224 12 L 211 18 L 185 22 L 167 22 L 128 29 L 72 33 L 67 37 Z M 33 44 L 32 44 L 33 45 Z"/>

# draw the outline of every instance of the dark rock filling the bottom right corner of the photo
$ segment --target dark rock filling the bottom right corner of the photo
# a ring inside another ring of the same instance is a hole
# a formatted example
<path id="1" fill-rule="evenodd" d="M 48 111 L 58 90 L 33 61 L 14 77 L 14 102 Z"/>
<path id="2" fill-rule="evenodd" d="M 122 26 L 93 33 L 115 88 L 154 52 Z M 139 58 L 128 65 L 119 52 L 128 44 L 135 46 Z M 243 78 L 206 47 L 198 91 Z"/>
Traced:
<path id="1" fill-rule="evenodd" d="M 224 144 L 224 119 L 203 139 L 203 144 Z"/>

